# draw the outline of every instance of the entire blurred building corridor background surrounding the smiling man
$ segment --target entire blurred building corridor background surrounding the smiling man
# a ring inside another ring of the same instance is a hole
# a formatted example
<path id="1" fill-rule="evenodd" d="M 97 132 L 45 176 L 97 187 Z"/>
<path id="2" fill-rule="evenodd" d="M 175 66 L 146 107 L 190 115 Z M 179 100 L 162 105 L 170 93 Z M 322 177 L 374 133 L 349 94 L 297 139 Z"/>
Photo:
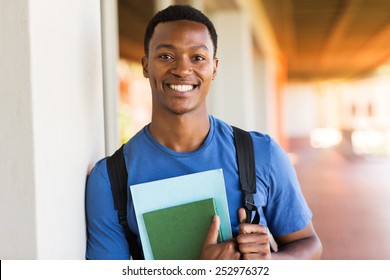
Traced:
<path id="1" fill-rule="evenodd" d="M 209 111 L 289 153 L 324 259 L 390 259 L 390 0 L 1 0 L 0 258 L 84 257 L 86 176 L 150 122 L 170 4 L 214 22 Z"/>

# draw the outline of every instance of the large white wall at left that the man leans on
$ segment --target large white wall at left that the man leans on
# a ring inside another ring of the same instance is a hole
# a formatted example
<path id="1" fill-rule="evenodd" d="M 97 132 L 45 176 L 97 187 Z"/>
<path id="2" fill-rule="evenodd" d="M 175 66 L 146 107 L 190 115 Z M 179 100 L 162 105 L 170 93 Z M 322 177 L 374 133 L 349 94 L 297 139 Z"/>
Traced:
<path id="1" fill-rule="evenodd" d="M 82 259 L 86 176 L 104 156 L 99 1 L 5 0 L 0 18 L 0 258 Z"/>

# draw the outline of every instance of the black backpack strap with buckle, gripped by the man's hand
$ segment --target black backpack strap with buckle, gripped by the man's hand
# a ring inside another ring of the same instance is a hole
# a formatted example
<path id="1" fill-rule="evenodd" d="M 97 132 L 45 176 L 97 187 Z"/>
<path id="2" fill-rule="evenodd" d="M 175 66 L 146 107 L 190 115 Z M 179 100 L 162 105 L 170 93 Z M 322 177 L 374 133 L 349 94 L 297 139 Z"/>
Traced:
<path id="1" fill-rule="evenodd" d="M 258 224 L 260 222 L 260 215 L 253 198 L 253 194 L 256 193 L 256 168 L 252 137 L 245 130 L 234 126 L 232 128 L 237 153 L 238 175 L 244 196 L 246 222 Z M 252 212 L 255 212 L 255 216 L 251 221 Z"/>

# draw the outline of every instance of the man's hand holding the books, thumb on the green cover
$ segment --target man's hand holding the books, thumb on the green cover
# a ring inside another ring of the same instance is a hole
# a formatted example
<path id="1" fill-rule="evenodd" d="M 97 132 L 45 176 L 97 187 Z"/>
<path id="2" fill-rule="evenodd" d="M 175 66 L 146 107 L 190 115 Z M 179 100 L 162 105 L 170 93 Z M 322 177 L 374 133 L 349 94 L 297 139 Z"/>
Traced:
<path id="1" fill-rule="evenodd" d="M 235 239 L 217 243 L 220 220 L 214 216 L 209 232 L 203 243 L 201 260 L 239 260 L 241 257 Z"/>

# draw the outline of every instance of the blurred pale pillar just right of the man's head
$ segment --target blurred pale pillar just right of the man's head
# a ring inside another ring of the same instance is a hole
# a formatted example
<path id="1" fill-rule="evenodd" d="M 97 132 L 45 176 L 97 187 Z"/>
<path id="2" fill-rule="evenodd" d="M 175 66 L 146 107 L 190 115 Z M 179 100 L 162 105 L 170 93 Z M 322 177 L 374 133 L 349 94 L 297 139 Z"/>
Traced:
<path id="1" fill-rule="evenodd" d="M 255 128 L 252 40 L 248 17 L 239 10 L 210 15 L 218 33 L 219 67 L 209 111 L 244 129 Z"/>

